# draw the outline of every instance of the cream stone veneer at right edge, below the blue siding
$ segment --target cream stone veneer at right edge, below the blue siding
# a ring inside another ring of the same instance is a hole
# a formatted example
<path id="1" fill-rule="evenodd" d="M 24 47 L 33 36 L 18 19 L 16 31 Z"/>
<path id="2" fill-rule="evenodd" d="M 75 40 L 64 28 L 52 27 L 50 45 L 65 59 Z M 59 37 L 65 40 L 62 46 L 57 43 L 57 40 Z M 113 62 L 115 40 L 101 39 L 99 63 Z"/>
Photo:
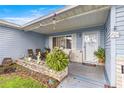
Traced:
<path id="1" fill-rule="evenodd" d="M 116 86 L 124 88 L 124 74 L 122 74 L 121 66 L 124 65 L 124 56 L 117 56 L 116 58 Z"/>

